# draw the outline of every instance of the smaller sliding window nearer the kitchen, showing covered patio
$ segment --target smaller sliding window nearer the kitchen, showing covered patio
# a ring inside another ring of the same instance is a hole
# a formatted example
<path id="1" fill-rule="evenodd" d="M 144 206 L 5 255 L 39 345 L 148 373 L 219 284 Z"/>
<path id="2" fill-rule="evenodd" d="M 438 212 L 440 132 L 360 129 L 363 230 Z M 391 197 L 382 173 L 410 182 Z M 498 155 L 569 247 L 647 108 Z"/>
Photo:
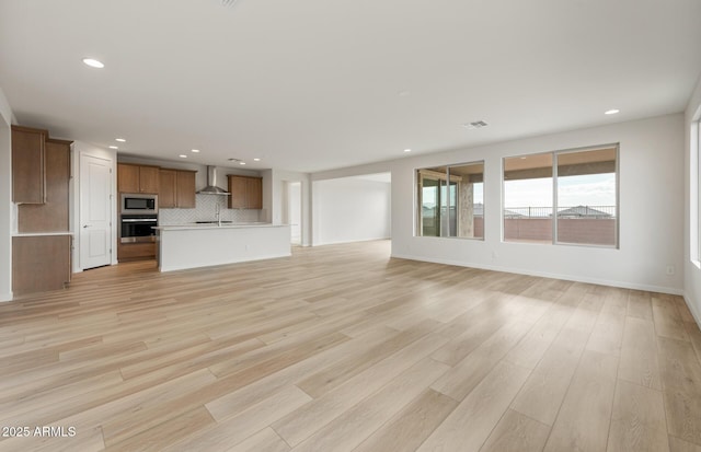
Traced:
<path id="1" fill-rule="evenodd" d="M 418 170 L 416 235 L 484 239 L 484 162 Z"/>

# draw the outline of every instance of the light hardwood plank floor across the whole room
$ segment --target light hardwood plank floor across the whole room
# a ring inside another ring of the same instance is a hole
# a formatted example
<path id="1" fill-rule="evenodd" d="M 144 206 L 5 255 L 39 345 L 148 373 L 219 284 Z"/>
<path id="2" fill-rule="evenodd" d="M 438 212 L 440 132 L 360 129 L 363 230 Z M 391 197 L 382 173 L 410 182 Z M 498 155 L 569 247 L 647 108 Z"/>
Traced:
<path id="1" fill-rule="evenodd" d="M 0 304 L 0 450 L 699 452 L 700 358 L 679 297 L 386 241 L 122 264 Z"/>

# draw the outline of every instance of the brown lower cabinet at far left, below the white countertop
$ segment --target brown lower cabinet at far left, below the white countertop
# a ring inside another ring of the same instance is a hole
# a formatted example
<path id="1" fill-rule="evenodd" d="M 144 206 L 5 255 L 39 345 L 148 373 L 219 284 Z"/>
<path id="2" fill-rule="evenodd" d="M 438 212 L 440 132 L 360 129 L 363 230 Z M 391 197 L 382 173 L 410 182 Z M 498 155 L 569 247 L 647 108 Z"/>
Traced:
<path id="1" fill-rule="evenodd" d="M 13 236 L 12 292 L 44 292 L 70 282 L 72 239 L 69 234 Z"/>

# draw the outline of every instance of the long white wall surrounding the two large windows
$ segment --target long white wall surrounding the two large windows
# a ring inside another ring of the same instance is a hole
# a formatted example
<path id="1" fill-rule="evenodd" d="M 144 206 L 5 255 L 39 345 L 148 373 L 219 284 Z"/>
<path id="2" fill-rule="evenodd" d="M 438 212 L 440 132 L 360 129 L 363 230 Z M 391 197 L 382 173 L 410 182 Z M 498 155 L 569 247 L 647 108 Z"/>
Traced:
<path id="1" fill-rule="evenodd" d="M 620 248 L 502 242 L 502 159 L 620 142 Z M 415 171 L 485 162 L 485 240 L 414 236 Z M 392 173 L 392 256 L 669 293 L 683 289 L 683 115 L 313 174 Z M 676 274 L 668 276 L 667 266 Z M 701 285 L 700 285 L 701 286 Z M 699 290 L 701 293 L 701 288 Z"/>

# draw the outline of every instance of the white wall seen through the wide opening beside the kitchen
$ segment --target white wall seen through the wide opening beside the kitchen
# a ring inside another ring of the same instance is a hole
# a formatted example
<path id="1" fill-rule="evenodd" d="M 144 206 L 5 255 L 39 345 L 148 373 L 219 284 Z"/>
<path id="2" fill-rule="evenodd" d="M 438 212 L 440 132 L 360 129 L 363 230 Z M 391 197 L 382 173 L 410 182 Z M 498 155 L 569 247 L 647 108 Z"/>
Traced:
<path id="1" fill-rule="evenodd" d="M 313 183 L 314 245 L 389 239 L 391 184 L 361 177 Z"/>

